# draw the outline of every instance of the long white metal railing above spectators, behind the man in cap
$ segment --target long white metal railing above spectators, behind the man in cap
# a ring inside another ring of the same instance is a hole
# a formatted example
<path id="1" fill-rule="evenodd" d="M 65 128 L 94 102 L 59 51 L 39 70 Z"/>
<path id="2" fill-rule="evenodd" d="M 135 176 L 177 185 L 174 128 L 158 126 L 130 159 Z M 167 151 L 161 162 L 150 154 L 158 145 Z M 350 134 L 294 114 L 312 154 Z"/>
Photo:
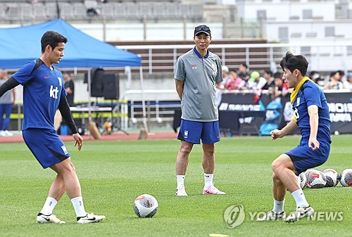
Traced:
<path id="1" fill-rule="evenodd" d="M 176 60 L 194 47 L 186 45 L 130 45 L 118 46 L 142 57 L 144 72 L 172 72 Z M 222 65 L 237 70 L 240 63 L 246 63 L 251 71 L 280 70 L 279 61 L 287 51 L 306 56 L 308 70 L 329 72 L 352 71 L 352 42 L 301 43 L 301 44 L 210 44 L 210 51 L 220 56 Z M 147 53 L 146 53 L 147 51 Z"/>

